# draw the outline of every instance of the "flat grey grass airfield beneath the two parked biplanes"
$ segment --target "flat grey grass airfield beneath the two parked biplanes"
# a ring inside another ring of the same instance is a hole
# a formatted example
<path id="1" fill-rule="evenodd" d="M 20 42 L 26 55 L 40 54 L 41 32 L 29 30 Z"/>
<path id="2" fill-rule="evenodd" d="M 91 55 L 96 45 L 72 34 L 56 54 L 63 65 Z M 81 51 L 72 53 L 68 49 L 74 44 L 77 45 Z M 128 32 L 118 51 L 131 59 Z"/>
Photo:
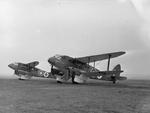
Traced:
<path id="1" fill-rule="evenodd" d="M 0 79 L 0 113 L 150 113 L 150 81 Z"/>

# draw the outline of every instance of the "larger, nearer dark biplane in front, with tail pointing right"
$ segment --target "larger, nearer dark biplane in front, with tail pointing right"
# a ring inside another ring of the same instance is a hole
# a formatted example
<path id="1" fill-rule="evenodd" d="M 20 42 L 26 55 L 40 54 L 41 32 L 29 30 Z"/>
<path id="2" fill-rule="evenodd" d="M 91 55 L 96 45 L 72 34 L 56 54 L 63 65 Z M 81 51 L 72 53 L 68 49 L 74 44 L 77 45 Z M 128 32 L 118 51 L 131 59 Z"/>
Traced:
<path id="1" fill-rule="evenodd" d="M 51 74 L 55 76 L 58 83 L 72 80 L 72 83 L 84 83 L 88 79 L 106 80 L 116 83 L 117 80 L 126 80 L 127 77 L 120 76 L 121 65 L 118 64 L 110 70 L 110 59 L 121 56 L 125 52 L 106 53 L 86 57 L 72 58 L 66 55 L 55 55 L 48 59 L 51 64 Z M 108 60 L 107 70 L 100 71 L 95 68 L 95 62 Z M 93 66 L 90 63 L 93 62 Z"/>

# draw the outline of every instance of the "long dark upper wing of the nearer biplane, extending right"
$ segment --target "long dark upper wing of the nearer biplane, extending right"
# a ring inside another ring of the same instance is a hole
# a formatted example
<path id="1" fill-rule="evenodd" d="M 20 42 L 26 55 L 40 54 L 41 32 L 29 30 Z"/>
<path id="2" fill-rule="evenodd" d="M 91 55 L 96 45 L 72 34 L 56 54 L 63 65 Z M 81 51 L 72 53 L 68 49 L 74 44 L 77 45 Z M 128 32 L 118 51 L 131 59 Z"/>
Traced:
<path id="1" fill-rule="evenodd" d="M 105 60 L 105 59 L 108 59 L 108 58 L 115 58 L 115 57 L 118 57 L 118 56 L 123 55 L 123 54 L 125 54 L 125 52 L 120 51 L 120 52 L 106 53 L 106 54 L 101 54 L 101 55 L 79 57 L 79 58 L 76 58 L 76 59 L 81 61 L 81 62 L 84 62 L 84 63 L 90 63 L 90 62 Z"/>

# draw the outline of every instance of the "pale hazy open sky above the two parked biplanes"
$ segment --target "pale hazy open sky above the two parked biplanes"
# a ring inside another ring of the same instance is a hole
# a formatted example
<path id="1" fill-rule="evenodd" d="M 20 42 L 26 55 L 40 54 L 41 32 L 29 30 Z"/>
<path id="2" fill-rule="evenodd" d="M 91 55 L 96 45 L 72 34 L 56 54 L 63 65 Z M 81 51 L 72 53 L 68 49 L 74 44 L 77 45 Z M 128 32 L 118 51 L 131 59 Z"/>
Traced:
<path id="1" fill-rule="evenodd" d="M 112 59 L 129 78 L 150 78 L 149 0 L 0 0 L 0 72 L 12 62 L 126 51 Z M 105 66 L 105 67 L 104 67 Z M 106 69 L 98 62 L 97 68 Z M 138 74 L 138 75 L 137 75 Z"/>

